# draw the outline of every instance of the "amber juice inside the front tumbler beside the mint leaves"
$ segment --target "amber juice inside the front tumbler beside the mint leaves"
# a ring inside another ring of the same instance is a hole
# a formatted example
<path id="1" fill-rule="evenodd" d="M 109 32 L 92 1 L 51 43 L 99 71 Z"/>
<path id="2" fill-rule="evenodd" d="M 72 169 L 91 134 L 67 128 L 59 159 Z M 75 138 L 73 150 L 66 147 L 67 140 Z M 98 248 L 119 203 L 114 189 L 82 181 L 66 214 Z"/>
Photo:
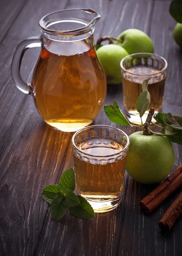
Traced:
<path id="1" fill-rule="evenodd" d="M 108 156 L 121 151 L 123 145 L 110 139 L 87 140 L 78 148 L 87 154 Z M 110 157 L 112 159 L 112 156 Z M 99 163 L 100 162 L 100 163 Z M 125 157 L 110 163 L 110 160 L 82 160 L 74 155 L 76 187 L 88 200 L 115 198 L 123 188 Z"/>

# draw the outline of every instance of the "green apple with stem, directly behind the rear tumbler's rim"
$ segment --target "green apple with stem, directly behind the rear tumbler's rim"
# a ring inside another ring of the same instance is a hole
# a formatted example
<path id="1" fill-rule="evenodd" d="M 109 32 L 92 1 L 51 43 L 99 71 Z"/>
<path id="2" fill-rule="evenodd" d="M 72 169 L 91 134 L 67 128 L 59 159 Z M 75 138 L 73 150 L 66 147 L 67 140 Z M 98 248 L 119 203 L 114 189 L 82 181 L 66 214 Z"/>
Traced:
<path id="1" fill-rule="evenodd" d="M 122 42 L 116 41 L 115 44 L 126 49 L 129 54 L 154 52 L 153 43 L 150 37 L 139 29 L 127 29 L 118 35 L 118 39 Z"/>

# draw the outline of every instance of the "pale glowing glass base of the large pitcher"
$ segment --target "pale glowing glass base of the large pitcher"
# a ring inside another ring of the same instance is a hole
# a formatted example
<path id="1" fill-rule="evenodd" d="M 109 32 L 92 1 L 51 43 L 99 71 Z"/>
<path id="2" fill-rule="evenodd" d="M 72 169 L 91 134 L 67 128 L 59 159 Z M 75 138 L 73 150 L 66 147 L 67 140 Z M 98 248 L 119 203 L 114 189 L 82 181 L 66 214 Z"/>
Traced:
<path id="1" fill-rule="evenodd" d="M 90 125 L 91 119 L 45 119 L 48 125 L 59 131 L 74 132 Z"/>

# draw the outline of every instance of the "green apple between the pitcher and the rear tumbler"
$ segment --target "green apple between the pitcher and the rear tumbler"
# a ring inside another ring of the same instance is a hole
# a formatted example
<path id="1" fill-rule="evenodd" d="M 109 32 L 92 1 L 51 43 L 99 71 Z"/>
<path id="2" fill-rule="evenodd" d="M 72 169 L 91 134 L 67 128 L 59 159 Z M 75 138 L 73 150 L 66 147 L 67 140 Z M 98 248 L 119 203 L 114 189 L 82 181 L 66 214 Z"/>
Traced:
<path id="1" fill-rule="evenodd" d="M 107 44 L 97 50 L 97 56 L 104 69 L 108 84 L 120 84 L 122 82 L 120 62 L 128 52 L 115 44 Z"/>

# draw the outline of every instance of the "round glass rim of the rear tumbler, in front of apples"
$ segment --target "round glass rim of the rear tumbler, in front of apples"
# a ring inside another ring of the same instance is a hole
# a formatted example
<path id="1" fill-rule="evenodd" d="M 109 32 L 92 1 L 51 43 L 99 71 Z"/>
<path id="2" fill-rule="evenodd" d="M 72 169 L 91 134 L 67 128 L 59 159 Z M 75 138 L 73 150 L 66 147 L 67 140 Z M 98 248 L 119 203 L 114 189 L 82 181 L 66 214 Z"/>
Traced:
<path id="1" fill-rule="evenodd" d="M 164 63 L 165 63 L 165 66 L 163 67 L 162 70 L 156 72 L 155 74 L 138 74 L 138 73 L 133 73 L 133 72 L 130 72 L 128 71 L 127 69 L 124 68 L 123 66 L 123 62 L 128 58 L 128 57 L 131 57 L 131 56 L 135 56 L 135 55 L 143 55 L 143 54 L 148 54 L 148 55 L 152 55 L 152 56 L 155 56 L 155 57 L 159 57 L 161 58 Z M 120 62 L 120 67 L 121 67 L 121 70 L 124 70 L 124 71 L 127 71 L 127 73 L 130 73 L 132 75 L 138 75 L 138 76 L 156 76 L 156 74 L 159 74 L 163 71 L 165 71 L 168 67 L 168 61 L 166 61 L 165 58 L 163 58 L 162 56 L 158 55 L 158 54 L 155 54 L 155 53 L 150 53 L 150 52 L 138 52 L 138 53 L 133 53 L 133 54 L 130 54 L 130 55 L 127 55 L 126 57 L 124 57 L 121 62 Z"/>

